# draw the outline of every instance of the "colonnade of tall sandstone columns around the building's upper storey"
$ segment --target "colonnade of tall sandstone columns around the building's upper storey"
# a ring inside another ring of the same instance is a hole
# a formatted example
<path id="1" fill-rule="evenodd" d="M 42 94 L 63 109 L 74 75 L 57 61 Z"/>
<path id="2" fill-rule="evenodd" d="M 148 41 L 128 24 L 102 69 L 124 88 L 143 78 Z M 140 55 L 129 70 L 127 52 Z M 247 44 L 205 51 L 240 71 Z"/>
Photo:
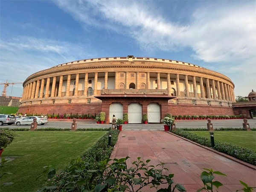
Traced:
<path id="1" fill-rule="evenodd" d="M 93 95 L 97 95 L 97 82 L 98 82 L 98 73 L 94 73 L 94 90 Z M 104 72 L 104 89 L 108 89 L 108 72 Z M 78 96 L 78 87 L 79 87 L 79 76 L 82 73 L 76 74 L 76 80 L 75 80 L 75 90 L 73 96 Z M 125 72 L 125 89 L 129 89 L 128 84 L 128 74 L 129 72 Z M 167 91 L 168 95 L 171 96 L 171 73 L 165 73 L 167 75 Z M 134 74 L 135 82 L 136 82 L 136 88 L 140 89 L 139 87 L 139 72 L 136 72 Z M 231 102 L 235 102 L 235 95 L 234 95 L 234 89 L 231 85 L 220 82 L 214 79 L 208 79 L 203 77 L 199 78 L 199 85 L 200 85 L 200 92 L 201 96 L 198 96 L 198 89 L 197 89 L 197 82 L 196 78 L 197 76 L 192 76 L 192 86 L 193 86 L 193 93 L 192 95 L 189 95 L 189 82 L 188 82 L 188 75 L 183 74 L 175 74 L 176 76 L 176 96 L 180 97 L 180 76 L 184 76 L 184 84 L 185 84 L 185 96 L 186 97 L 194 97 L 194 98 L 209 98 L 209 99 L 220 99 L 220 100 L 227 100 Z M 52 84 L 51 84 L 51 94 L 50 97 L 61 97 L 62 94 L 62 85 L 63 85 L 63 78 L 64 76 L 59 76 L 58 81 L 58 90 L 55 90 L 56 87 L 56 79 L 57 76 L 51 77 L 52 78 Z M 37 98 L 49 98 L 49 90 L 50 90 L 50 80 L 51 78 L 45 78 L 41 80 L 32 81 L 29 84 L 26 84 L 23 90 L 23 96 L 22 100 L 28 100 L 28 99 L 37 99 Z M 206 85 L 206 93 L 204 90 L 204 79 L 205 79 L 205 85 Z M 45 85 L 46 80 L 46 85 Z M 71 81 L 71 74 L 67 75 L 67 85 L 66 85 L 66 94 L 65 96 L 70 96 L 70 81 Z M 161 89 L 160 86 L 160 73 L 157 73 L 157 89 Z M 119 89 L 118 85 L 118 72 L 115 73 L 115 89 Z M 46 86 L 45 94 L 44 94 L 44 86 Z M 88 86 L 88 73 L 85 73 L 84 75 L 84 96 L 87 96 L 87 87 Z M 212 87 L 212 93 L 211 93 L 211 87 Z M 146 72 L 146 89 L 150 89 L 150 73 Z M 40 93 L 39 93 L 40 90 Z M 216 94 L 217 90 L 217 94 Z M 218 97 L 217 97 L 218 96 Z"/>

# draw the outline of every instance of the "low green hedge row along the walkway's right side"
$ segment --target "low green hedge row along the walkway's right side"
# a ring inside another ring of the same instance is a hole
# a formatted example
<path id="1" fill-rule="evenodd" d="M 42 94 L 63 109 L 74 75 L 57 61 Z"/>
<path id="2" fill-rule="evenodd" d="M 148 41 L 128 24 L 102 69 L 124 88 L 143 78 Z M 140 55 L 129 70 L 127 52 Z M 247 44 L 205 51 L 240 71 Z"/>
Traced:
<path id="1" fill-rule="evenodd" d="M 192 140 L 201 145 L 207 147 L 211 146 L 211 141 L 207 137 L 198 136 L 196 134 L 190 133 L 189 131 L 183 131 L 180 129 L 175 129 L 172 131 L 172 133 L 177 134 L 181 137 L 185 137 L 186 139 Z M 232 143 L 219 141 L 215 141 L 214 149 L 244 162 L 256 165 L 256 152 L 250 149 L 239 147 L 237 145 L 233 145 Z"/>

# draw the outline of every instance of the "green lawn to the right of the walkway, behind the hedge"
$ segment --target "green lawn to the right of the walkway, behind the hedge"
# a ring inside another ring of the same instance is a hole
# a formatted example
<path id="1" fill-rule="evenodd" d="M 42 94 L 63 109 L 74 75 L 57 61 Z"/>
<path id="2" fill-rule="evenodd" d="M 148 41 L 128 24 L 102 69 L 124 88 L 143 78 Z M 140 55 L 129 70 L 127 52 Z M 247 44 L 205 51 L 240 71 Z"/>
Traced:
<path id="1" fill-rule="evenodd" d="M 189 131 L 191 133 L 208 137 L 209 131 Z M 256 131 L 214 131 L 216 141 L 233 143 L 241 147 L 256 151 Z"/>

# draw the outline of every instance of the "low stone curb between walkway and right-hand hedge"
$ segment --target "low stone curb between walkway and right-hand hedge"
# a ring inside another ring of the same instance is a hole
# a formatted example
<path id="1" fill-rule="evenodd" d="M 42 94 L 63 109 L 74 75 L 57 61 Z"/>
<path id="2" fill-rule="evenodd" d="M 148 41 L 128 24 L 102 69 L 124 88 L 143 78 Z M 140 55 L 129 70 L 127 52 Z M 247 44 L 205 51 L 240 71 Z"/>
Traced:
<path id="1" fill-rule="evenodd" d="M 216 150 L 214 150 L 214 149 L 212 149 L 212 148 L 209 148 L 209 147 L 206 147 L 206 146 L 204 146 L 204 145 L 200 145 L 199 143 L 195 143 L 194 141 L 188 140 L 188 139 L 186 139 L 186 138 L 184 138 L 184 137 L 181 137 L 181 136 L 179 136 L 179 135 L 173 134 L 173 133 L 171 133 L 171 132 L 169 132 L 169 131 L 166 131 L 166 132 L 167 132 L 168 134 L 171 134 L 171 135 L 175 136 L 175 137 L 179 137 L 180 139 L 183 139 L 183 140 L 185 140 L 185 141 L 188 141 L 188 142 L 190 142 L 190 143 L 193 143 L 193 144 L 195 144 L 195 145 L 198 145 L 198 146 L 201 147 L 201 148 L 207 149 L 208 151 L 212 151 L 212 152 L 214 152 L 214 153 L 216 153 L 216 154 L 219 154 L 219 155 L 221 155 L 221 156 L 223 156 L 223 157 L 226 157 L 226 158 L 228 158 L 228 159 L 230 159 L 230 160 L 233 160 L 233 161 L 235 161 L 236 163 L 240 163 L 240 164 L 242 164 L 242 165 L 244 165 L 244 166 L 247 166 L 247 167 L 250 168 L 250 169 L 256 170 L 256 166 L 251 165 L 250 163 L 246 163 L 246 162 L 244 162 L 244 161 L 241 161 L 241 160 L 239 160 L 239 159 L 236 159 L 235 157 L 231 157 L 230 155 L 221 153 L 221 152 L 219 152 L 219 151 L 216 151 Z"/>

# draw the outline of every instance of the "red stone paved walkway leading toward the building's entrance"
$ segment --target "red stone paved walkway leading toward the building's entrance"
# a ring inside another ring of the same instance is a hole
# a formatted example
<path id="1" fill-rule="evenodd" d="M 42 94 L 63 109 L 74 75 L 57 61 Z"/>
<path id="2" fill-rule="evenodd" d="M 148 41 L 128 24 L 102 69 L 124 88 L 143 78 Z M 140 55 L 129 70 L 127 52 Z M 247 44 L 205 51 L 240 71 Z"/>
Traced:
<path id="1" fill-rule="evenodd" d="M 212 168 L 227 175 L 215 177 L 224 184 L 219 188 L 221 192 L 242 189 L 239 180 L 256 186 L 255 170 L 165 131 L 122 131 L 120 134 L 111 159 L 129 156 L 128 163 L 137 160 L 137 157 L 142 157 L 144 161 L 150 159 L 152 165 L 166 163 L 168 174 L 175 174 L 175 183 L 183 184 L 188 192 L 197 191 L 202 186 L 202 168 Z"/>

